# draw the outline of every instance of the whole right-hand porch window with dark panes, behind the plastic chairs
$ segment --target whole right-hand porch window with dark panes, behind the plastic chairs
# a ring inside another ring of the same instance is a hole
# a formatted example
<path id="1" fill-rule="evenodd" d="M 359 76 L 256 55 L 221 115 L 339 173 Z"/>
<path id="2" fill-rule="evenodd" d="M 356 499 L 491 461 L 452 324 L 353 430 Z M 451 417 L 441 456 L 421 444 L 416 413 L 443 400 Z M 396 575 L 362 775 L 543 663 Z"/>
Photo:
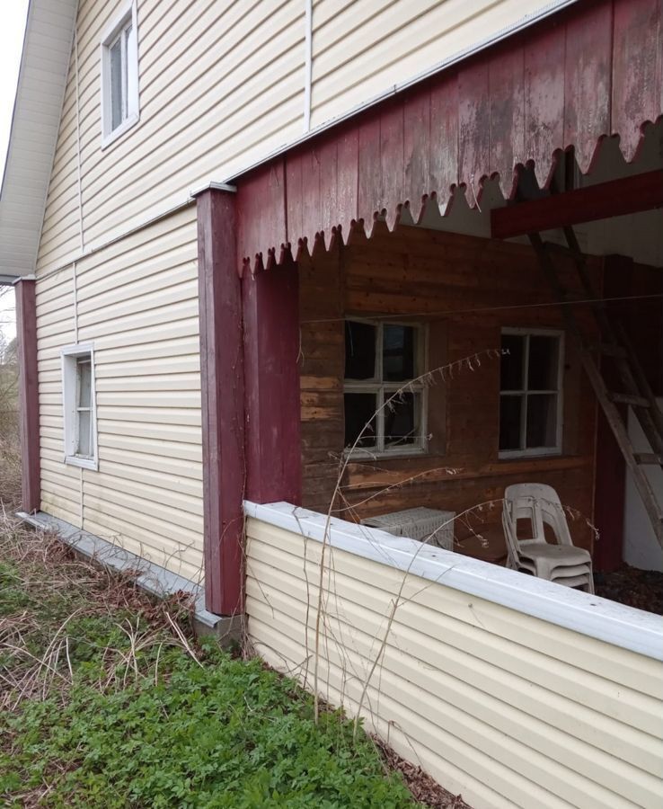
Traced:
<path id="1" fill-rule="evenodd" d="M 499 457 L 561 452 L 560 332 L 504 329 Z"/>

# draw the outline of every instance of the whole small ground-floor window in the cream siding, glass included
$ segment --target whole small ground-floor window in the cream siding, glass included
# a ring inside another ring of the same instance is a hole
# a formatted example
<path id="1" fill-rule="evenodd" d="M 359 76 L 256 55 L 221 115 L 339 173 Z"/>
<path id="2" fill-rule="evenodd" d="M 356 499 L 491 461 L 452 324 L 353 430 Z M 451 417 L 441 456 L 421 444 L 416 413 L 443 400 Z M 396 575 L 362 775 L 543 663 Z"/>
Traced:
<path id="1" fill-rule="evenodd" d="M 62 398 L 65 463 L 96 469 L 97 429 L 94 403 L 94 351 L 91 344 L 62 350 Z"/>

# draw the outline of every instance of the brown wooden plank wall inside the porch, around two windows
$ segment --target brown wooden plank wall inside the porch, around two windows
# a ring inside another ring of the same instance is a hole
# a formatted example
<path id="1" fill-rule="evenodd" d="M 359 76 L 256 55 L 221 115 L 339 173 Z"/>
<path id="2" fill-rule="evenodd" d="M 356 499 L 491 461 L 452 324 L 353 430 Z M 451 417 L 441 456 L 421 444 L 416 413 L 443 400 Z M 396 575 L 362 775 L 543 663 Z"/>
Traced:
<path id="1" fill-rule="evenodd" d="M 580 297 L 570 268 L 562 279 Z M 300 261 L 300 301 L 303 504 L 317 511 L 329 508 L 342 462 L 345 315 L 419 316 L 429 324 L 429 369 L 499 349 L 503 326 L 561 328 L 529 246 L 414 227 L 390 233 L 380 222 L 369 239 L 355 231 L 345 246 L 318 247 Z M 591 328 L 586 307 L 578 314 Z M 358 520 L 415 506 L 460 512 L 485 503 L 456 520 L 456 540 L 461 550 L 499 559 L 505 485 L 546 483 L 582 515 L 570 528 L 578 545 L 590 547 L 596 405 L 568 340 L 566 349 L 560 457 L 499 460 L 499 360 L 484 359 L 429 389 L 429 452 L 349 464 L 336 513 Z"/>

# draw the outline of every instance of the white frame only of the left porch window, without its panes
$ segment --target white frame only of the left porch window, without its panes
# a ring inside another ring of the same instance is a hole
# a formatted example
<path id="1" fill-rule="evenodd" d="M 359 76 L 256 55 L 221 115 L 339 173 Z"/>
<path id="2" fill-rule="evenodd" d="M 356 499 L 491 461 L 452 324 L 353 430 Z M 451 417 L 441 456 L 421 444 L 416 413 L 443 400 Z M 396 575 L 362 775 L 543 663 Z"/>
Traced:
<path id="1" fill-rule="evenodd" d="M 343 331 L 345 333 L 345 323 L 366 323 L 376 327 L 376 367 L 374 369 L 374 376 L 371 379 L 343 379 L 343 394 L 347 393 L 369 393 L 375 394 L 384 402 L 389 396 L 402 387 L 407 385 L 407 381 L 402 382 L 384 382 L 382 380 L 383 368 L 383 329 L 385 325 L 402 325 L 416 329 L 420 339 L 417 345 L 416 362 L 418 366 L 419 375 L 423 374 L 427 367 L 428 354 L 429 354 L 429 329 L 428 324 L 425 323 L 412 323 L 409 321 L 402 321 L 387 318 L 385 320 L 369 320 L 366 317 L 353 317 L 346 316 L 343 321 Z M 385 407 L 380 407 L 376 416 L 376 446 L 375 447 L 356 447 L 350 449 L 344 448 L 344 455 L 348 458 L 402 458 L 403 456 L 422 455 L 428 450 L 428 414 L 429 414 L 429 392 L 428 388 L 423 382 L 417 382 L 411 388 L 412 393 L 421 396 L 421 423 L 420 423 L 420 437 L 419 441 L 412 444 L 403 445 L 402 447 L 385 447 Z M 344 400 L 345 402 L 345 400 Z M 345 413 L 345 404 L 343 405 L 343 413 Z"/>

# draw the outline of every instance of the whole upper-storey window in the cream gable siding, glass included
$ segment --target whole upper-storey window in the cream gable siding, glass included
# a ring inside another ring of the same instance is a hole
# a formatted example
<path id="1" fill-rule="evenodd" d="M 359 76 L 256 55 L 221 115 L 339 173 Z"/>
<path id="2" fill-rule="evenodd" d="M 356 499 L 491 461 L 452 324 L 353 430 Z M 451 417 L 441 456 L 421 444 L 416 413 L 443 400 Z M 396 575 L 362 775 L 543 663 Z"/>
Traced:
<path id="1" fill-rule="evenodd" d="M 138 120 L 136 4 L 128 4 L 102 39 L 102 146 Z"/>

